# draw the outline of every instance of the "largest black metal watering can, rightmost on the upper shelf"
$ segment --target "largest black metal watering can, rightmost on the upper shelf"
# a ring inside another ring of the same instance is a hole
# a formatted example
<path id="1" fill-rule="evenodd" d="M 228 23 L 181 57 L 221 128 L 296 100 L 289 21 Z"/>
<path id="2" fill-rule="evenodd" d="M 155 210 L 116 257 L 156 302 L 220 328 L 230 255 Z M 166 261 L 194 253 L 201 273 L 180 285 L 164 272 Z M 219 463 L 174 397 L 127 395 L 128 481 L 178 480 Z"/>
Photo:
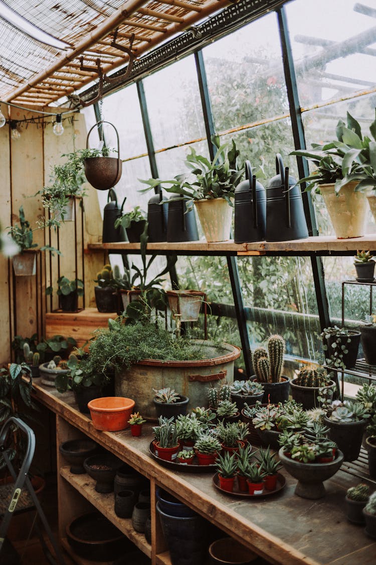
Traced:
<path id="1" fill-rule="evenodd" d="M 266 241 L 302 240 L 308 237 L 302 192 L 289 167 L 276 156 L 277 175 L 266 187 Z"/>

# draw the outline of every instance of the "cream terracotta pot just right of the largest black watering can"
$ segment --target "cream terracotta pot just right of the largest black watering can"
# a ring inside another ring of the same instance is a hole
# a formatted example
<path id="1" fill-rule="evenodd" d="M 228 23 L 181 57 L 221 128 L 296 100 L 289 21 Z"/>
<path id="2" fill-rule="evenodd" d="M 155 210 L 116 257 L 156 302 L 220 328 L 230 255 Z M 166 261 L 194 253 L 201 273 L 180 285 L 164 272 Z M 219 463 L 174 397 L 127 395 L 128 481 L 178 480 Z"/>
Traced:
<path id="1" fill-rule="evenodd" d="M 334 184 L 321 184 L 320 192 L 328 209 L 335 237 L 361 237 L 365 234 L 367 198 L 365 192 L 355 192 L 357 181 L 342 186 L 338 194 Z"/>

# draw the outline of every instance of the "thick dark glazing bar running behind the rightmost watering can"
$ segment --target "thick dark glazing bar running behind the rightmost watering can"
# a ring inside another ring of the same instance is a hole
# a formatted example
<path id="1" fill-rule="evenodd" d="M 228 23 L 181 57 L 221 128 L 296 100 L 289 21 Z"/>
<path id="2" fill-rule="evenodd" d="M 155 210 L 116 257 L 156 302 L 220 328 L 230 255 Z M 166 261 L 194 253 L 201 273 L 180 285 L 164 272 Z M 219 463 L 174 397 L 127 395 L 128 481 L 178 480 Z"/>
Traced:
<path id="1" fill-rule="evenodd" d="M 289 99 L 291 126 L 293 129 L 295 149 L 306 149 L 306 140 L 304 138 L 304 127 L 302 120 L 302 112 L 300 111 L 299 94 L 297 87 L 297 77 L 295 75 L 293 53 L 291 51 L 290 35 L 287 26 L 286 11 L 284 6 L 278 8 L 277 19 L 280 29 L 280 41 L 282 49 L 282 60 L 284 64 L 284 73 L 287 89 L 287 98 Z M 297 158 L 299 178 L 308 176 L 309 169 L 306 159 Z M 313 209 L 311 195 L 303 193 L 304 214 L 306 215 L 309 235 L 317 236 L 317 225 L 315 218 L 315 210 Z M 313 274 L 313 283 L 315 285 L 317 308 L 319 310 L 319 318 L 321 329 L 330 325 L 329 304 L 326 295 L 324 265 L 321 257 L 311 256 L 311 266 Z"/>

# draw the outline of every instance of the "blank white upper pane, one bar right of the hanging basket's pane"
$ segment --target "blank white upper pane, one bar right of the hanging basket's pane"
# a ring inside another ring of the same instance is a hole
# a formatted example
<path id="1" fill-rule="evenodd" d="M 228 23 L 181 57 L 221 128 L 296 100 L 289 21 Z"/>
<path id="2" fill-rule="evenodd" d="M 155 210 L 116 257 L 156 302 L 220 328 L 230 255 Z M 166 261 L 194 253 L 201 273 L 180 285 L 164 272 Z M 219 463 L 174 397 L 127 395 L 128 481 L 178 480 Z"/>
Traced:
<path id="1" fill-rule="evenodd" d="M 144 80 L 154 149 L 206 137 L 193 56 Z"/>

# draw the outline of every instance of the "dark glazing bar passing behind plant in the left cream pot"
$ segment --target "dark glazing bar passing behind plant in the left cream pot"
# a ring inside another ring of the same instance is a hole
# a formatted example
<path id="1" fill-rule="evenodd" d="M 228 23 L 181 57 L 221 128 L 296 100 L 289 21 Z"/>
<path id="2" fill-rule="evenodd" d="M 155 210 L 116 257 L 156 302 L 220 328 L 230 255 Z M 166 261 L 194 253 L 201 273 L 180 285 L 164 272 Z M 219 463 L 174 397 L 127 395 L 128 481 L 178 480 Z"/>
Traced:
<path id="1" fill-rule="evenodd" d="M 215 125 L 214 125 L 213 112 L 211 110 L 209 90 L 207 88 L 206 71 L 205 71 L 204 57 L 202 56 L 202 51 L 197 51 L 197 53 L 194 54 L 194 60 L 196 62 L 196 71 L 197 71 L 198 85 L 200 88 L 202 111 L 204 112 L 207 144 L 209 147 L 210 158 L 213 159 L 214 146 L 211 143 L 210 138 L 215 133 Z M 236 257 L 227 257 L 227 268 L 231 282 L 232 296 L 234 299 L 236 318 L 237 318 L 237 323 L 240 333 L 240 341 L 243 350 L 245 372 L 246 375 L 250 377 L 253 374 L 251 355 L 250 355 L 250 344 L 249 344 L 246 315 L 244 310 L 244 303 L 241 292 L 241 285 L 240 285 Z"/>

